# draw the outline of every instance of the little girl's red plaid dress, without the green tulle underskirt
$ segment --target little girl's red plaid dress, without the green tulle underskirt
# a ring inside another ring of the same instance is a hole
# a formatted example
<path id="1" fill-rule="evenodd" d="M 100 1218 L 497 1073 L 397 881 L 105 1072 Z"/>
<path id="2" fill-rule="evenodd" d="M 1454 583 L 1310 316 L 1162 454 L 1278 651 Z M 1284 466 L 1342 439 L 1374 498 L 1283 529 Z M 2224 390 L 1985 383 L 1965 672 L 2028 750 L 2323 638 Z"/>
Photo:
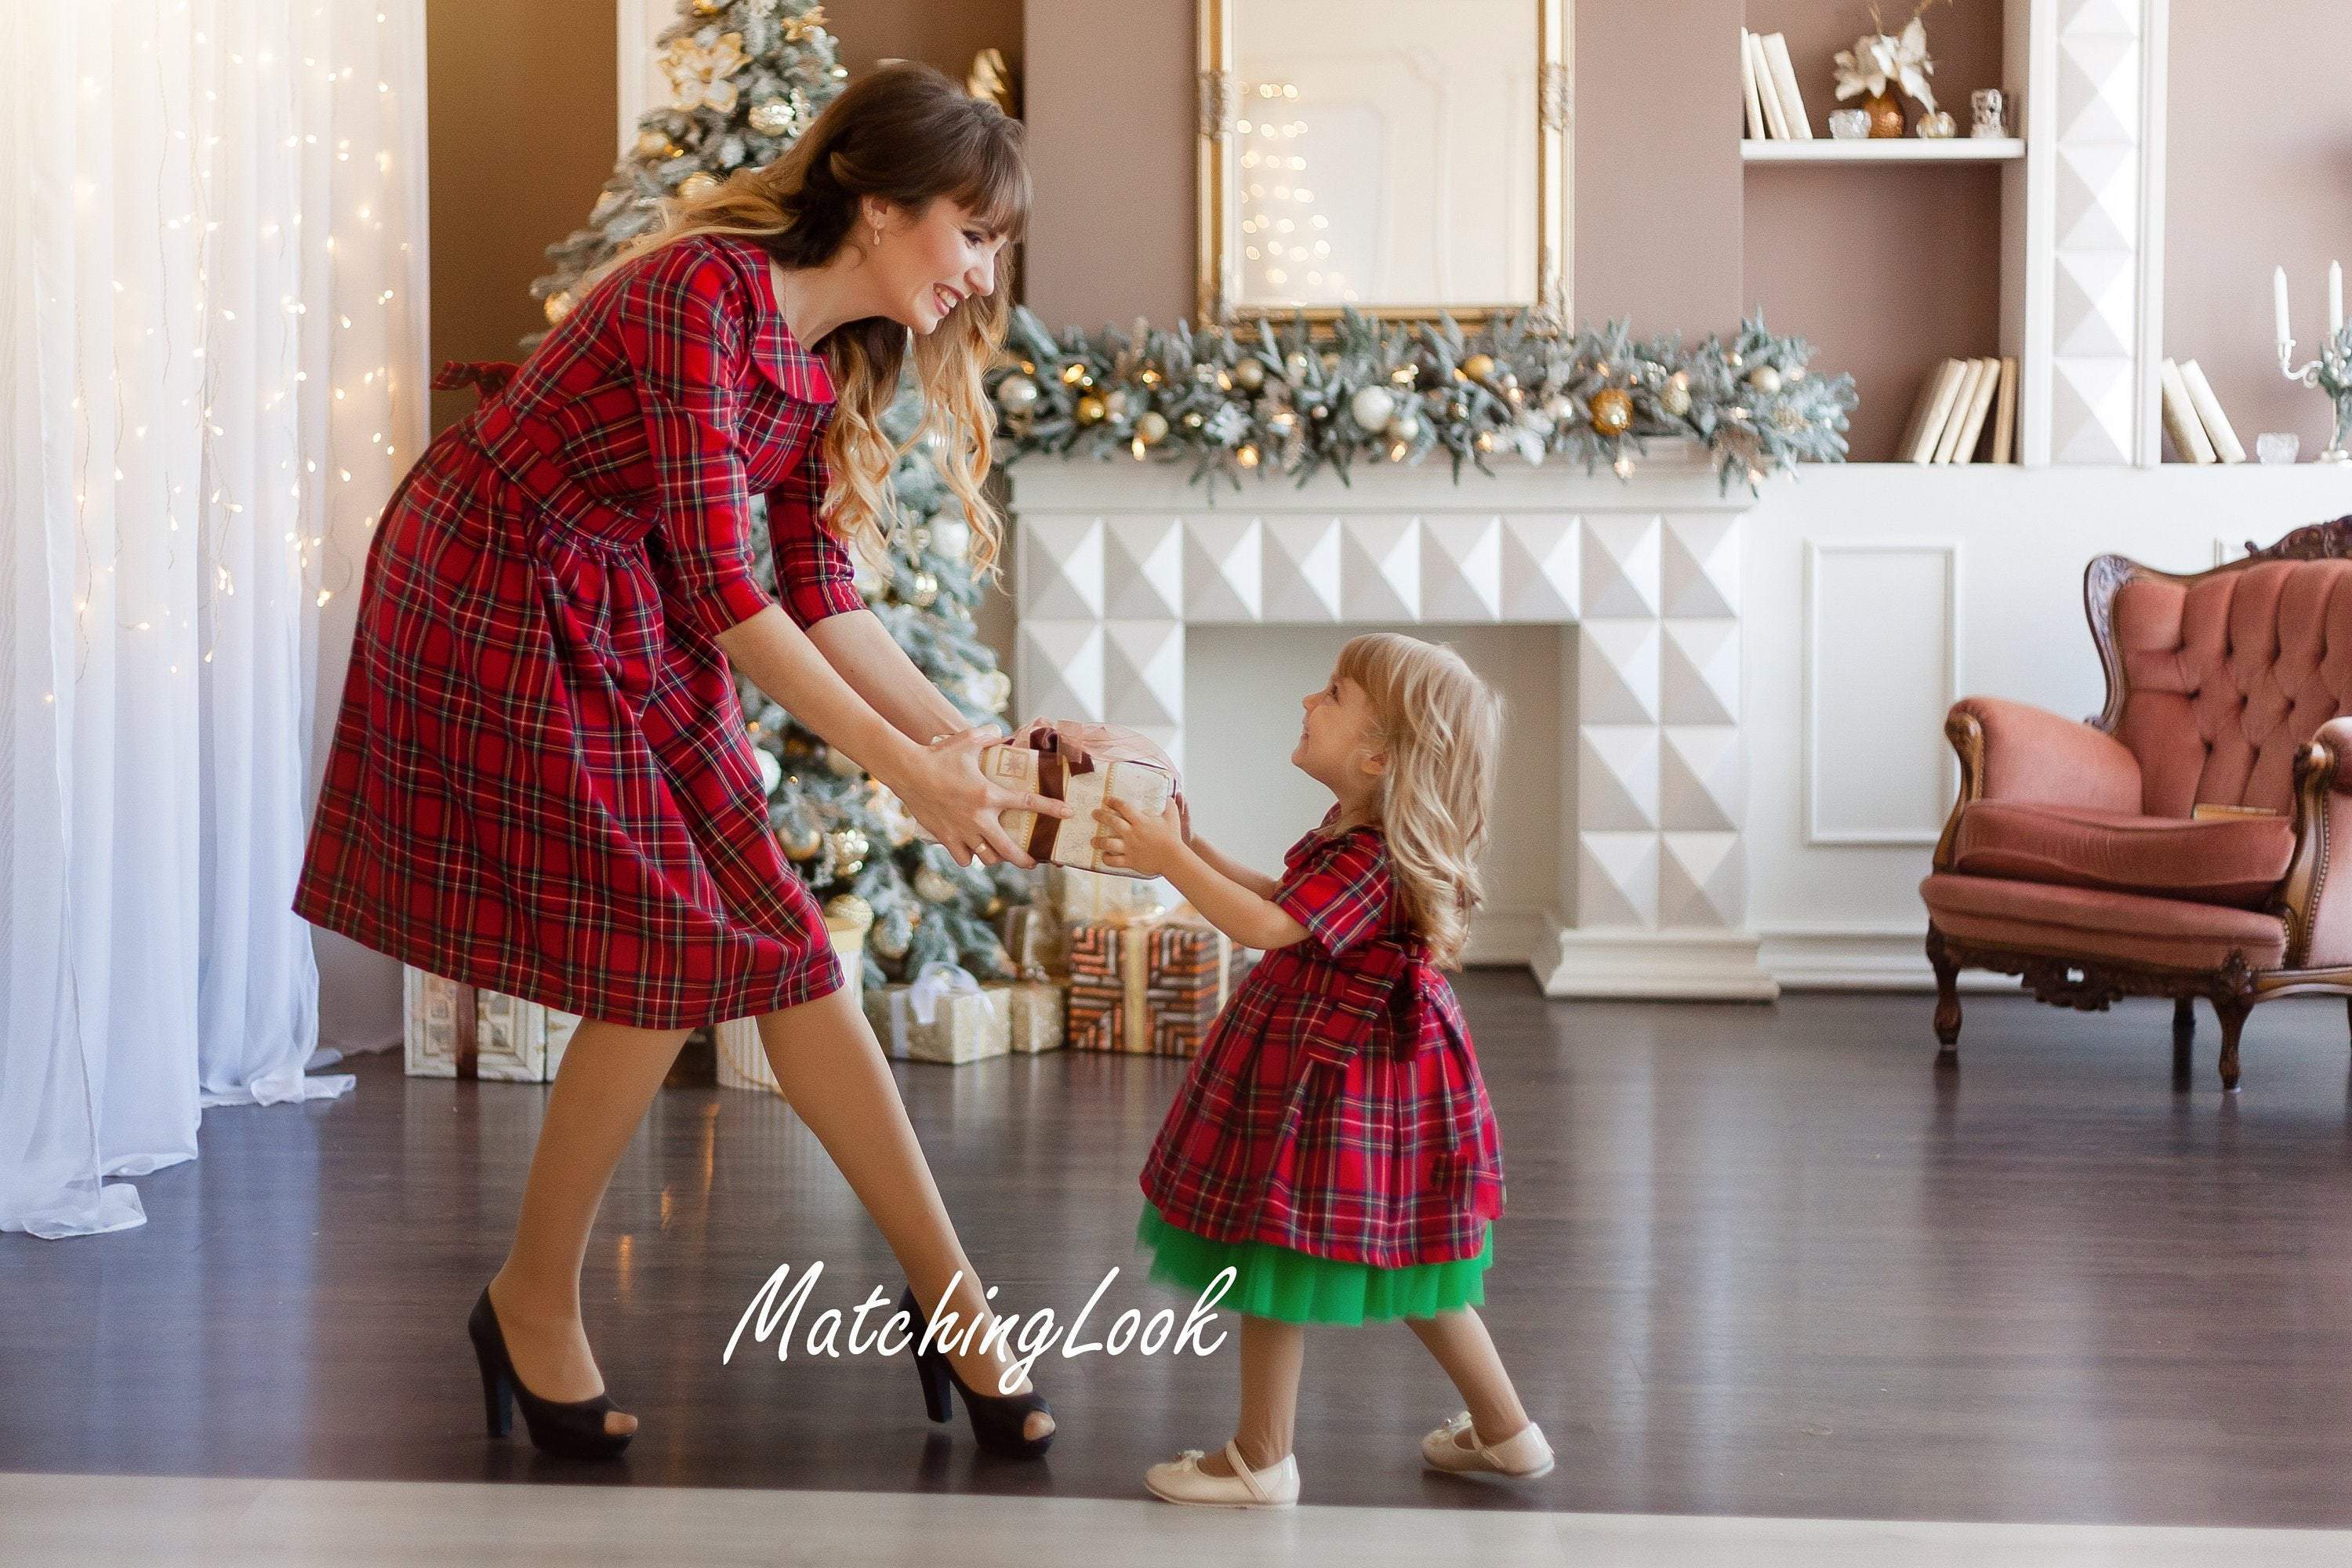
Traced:
<path id="1" fill-rule="evenodd" d="M 1503 1135 L 1470 1030 L 1381 830 L 1324 827 L 1275 891 L 1308 936 L 1268 952 L 1209 1027 L 1143 1194 L 1211 1241 L 1381 1269 L 1475 1258 L 1503 1213 Z"/>

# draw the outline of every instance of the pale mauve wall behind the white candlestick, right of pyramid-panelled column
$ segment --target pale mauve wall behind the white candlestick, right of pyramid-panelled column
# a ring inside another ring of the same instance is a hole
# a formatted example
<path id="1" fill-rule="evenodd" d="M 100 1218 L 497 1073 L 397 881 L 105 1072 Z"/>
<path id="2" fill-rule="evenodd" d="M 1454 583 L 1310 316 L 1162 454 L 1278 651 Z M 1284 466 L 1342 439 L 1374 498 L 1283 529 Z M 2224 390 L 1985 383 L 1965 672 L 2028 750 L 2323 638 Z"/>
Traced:
<path id="1" fill-rule="evenodd" d="M 2326 444 L 2328 402 L 2279 376 L 2270 268 L 2296 360 L 2326 334 L 2328 261 L 2352 266 L 2352 12 L 2343 0 L 2173 0 L 2164 146 L 2164 353 L 2197 360 L 2253 454 Z"/>

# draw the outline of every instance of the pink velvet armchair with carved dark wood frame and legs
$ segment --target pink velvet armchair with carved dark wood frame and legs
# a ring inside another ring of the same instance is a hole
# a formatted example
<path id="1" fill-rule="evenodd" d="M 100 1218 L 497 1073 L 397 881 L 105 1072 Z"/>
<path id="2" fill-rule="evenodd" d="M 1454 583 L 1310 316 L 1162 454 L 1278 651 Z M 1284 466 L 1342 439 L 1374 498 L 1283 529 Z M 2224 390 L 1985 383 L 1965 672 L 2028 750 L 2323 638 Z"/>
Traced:
<path id="1" fill-rule="evenodd" d="M 1945 1056 L 1962 969 L 2082 1011 L 2173 997 L 2183 1072 L 2206 997 L 2230 1091 L 2253 1004 L 2352 997 L 2347 557 L 2352 517 L 2187 576 L 2103 555 L 2084 609 L 2105 710 L 1952 705 L 1959 799 L 1919 884 Z"/>

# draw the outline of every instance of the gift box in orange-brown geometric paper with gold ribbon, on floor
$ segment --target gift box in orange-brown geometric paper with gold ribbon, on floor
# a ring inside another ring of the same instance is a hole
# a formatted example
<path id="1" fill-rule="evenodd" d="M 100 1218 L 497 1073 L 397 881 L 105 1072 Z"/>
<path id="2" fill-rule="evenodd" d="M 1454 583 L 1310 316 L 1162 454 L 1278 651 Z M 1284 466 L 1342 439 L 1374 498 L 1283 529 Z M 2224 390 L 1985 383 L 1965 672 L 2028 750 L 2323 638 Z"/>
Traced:
<path id="1" fill-rule="evenodd" d="M 1195 1056 L 1242 966 L 1232 938 L 1178 910 L 1070 926 L 1073 1051 Z"/>

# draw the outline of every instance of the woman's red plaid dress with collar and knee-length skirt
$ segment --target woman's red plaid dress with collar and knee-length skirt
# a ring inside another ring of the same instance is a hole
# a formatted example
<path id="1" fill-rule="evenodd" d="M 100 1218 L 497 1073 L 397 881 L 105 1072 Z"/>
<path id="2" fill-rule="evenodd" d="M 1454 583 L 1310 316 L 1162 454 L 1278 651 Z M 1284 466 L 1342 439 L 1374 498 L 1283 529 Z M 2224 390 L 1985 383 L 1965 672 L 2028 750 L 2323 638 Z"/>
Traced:
<path id="1" fill-rule="evenodd" d="M 786 329 L 767 252 L 656 249 L 499 369 L 470 367 L 482 404 L 369 543 L 294 910 L 649 1030 L 840 987 L 715 642 L 771 602 L 755 494 L 793 621 L 863 609 L 816 520 L 833 381 Z"/>

